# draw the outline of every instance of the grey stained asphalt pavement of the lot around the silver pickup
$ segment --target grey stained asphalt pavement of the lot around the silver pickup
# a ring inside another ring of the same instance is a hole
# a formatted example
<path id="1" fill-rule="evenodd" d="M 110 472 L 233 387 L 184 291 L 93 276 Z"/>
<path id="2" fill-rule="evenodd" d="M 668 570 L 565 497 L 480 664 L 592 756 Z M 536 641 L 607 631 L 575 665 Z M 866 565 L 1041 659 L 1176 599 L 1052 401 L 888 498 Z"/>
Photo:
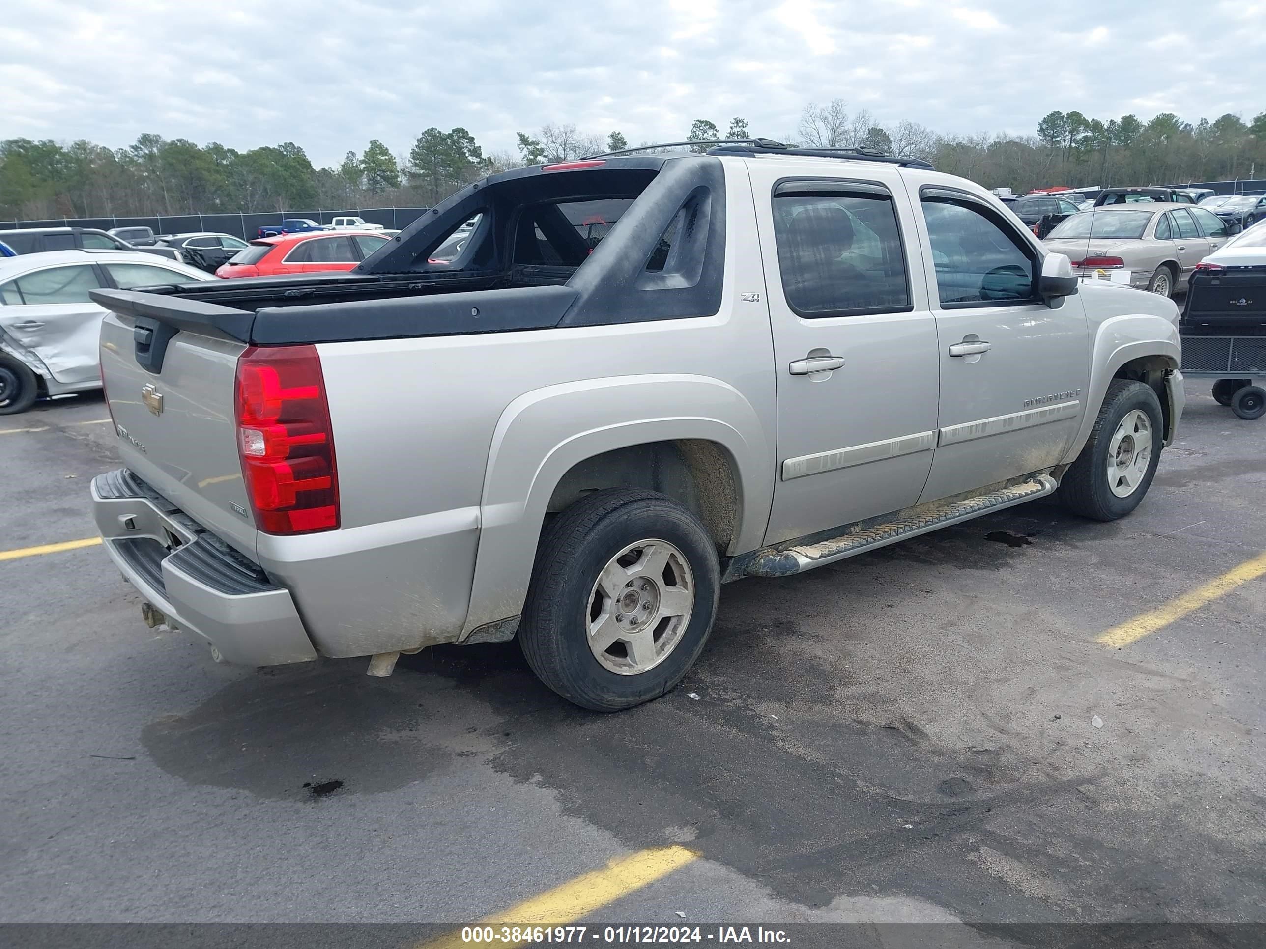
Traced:
<path id="1" fill-rule="evenodd" d="M 1262 922 L 1266 577 L 1096 639 L 1266 550 L 1266 420 L 1188 400 L 1131 518 L 1039 501 L 730 585 L 682 686 L 620 715 L 514 643 L 216 664 L 99 547 L 3 561 L 0 921 L 447 929 L 676 845 L 582 919 Z M 101 399 L 0 431 L 0 552 L 94 537 Z"/>

